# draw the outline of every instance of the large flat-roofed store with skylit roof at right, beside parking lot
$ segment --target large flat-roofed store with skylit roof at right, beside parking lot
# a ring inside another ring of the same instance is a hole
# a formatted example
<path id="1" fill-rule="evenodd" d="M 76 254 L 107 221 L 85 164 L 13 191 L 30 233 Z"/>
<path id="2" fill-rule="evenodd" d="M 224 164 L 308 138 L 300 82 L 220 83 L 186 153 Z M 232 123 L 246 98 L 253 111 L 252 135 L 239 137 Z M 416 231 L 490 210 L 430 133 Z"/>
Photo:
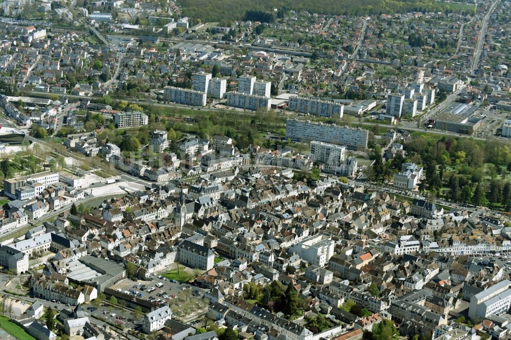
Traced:
<path id="1" fill-rule="evenodd" d="M 482 120 L 475 116 L 478 108 L 476 105 L 453 103 L 435 117 L 435 129 L 471 135 L 482 124 Z"/>

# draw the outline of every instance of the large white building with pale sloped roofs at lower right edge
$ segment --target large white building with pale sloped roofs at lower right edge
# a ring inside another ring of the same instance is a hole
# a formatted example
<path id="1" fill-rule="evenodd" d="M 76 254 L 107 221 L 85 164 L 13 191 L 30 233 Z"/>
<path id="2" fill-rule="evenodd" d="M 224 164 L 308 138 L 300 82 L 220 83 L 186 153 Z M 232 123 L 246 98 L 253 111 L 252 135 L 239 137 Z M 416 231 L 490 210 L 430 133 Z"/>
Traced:
<path id="1" fill-rule="evenodd" d="M 511 306 L 511 281 L 503 280 L 490 288 L 475 294 L 470 299 L 469 318 L 486 318 L 491 314 L 500 315 Z"/>

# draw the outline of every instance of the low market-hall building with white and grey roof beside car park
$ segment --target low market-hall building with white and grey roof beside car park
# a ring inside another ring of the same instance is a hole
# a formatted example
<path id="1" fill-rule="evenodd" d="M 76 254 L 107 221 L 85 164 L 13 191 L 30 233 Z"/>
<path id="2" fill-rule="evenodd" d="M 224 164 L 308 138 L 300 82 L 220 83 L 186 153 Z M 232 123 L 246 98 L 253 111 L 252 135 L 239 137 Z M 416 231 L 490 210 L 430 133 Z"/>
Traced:
<path id="1" fill-rule="evenodd" d="M 71 280 L 96 287 L 99 292 L 126 277 L 122 265 L 100 257 L 86 255 L 78 261 L 69 262 L 67 277 Z"/>

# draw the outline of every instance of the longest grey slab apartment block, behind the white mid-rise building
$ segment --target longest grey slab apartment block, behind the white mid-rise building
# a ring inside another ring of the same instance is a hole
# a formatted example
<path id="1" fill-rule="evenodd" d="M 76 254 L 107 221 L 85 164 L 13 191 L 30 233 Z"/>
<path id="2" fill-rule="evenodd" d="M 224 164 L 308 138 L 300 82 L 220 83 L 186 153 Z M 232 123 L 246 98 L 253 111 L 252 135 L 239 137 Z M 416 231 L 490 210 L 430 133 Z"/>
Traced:
<path id="1" fill-rule="evenodd" d="M 286 122 L 286 138 L 292 140 L 319 140 L 346 145 L 349 149 L 365 149 L 368 137 L 369 132 L 360 128 L 352 129 L 335 124 L 313 123 L 310 120 L 288 119 Z"/>

